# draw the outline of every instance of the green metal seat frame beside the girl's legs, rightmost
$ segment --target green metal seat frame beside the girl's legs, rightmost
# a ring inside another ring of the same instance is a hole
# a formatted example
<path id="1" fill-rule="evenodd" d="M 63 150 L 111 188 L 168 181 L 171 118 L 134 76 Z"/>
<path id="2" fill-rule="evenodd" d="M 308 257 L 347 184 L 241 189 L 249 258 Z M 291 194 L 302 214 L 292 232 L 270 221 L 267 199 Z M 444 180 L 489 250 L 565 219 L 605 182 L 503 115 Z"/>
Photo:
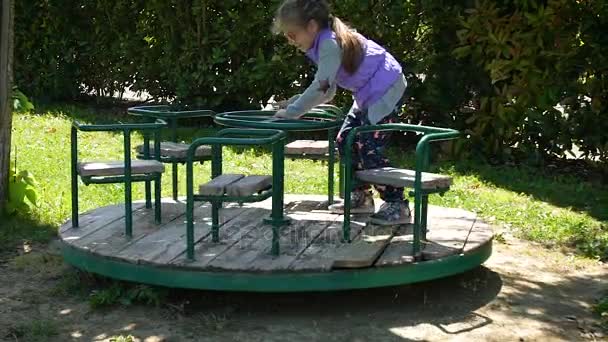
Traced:
<path id="1" fill-rule="evenodd" d="M 414 241 L 413 241 L 413 256 L 417 258 L 420 255 L 420 241 L 426 239 L 426 222 L 428 212 L 428 195 L 431 193 L 441 193 L 448 189 L 438 189 L 427 191 L 422 189 L 422 173 L 426 172 L 429 167 L 430 160 L 430 143 L 443 140 L 452 140 L 460 136 L 460 132 L 449 128 L 419 126 L 410 124 L 383 124 L 357 127 L 353 129 L 347 139 L 343 159 L 344 168 L 344 226 L 343 239 L 350 241 L 350 199 L 351 192 L 354 186 L 353 169 L 352 169 L 352 146 L 358 134 L 380 132 L 380 131 L 406 131 L 422 133 L 424 136 L 416 145 L 416 164 L 415 164 L 415 180 L 414 191 L 410 196 L 414 196 Z"/>

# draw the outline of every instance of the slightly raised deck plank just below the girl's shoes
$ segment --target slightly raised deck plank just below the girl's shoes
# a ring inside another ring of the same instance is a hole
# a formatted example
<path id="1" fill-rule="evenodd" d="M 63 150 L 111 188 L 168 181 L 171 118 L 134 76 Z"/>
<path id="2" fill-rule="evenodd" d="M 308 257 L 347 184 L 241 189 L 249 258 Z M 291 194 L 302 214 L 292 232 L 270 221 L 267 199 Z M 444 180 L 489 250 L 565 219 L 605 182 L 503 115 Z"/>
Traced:
<path id="1" fill-rule="evenodd" d="M 333 268 L 372 266 L 395 234 L 393 227 L 369 225 L 350 244 L 340 247 Z"/>

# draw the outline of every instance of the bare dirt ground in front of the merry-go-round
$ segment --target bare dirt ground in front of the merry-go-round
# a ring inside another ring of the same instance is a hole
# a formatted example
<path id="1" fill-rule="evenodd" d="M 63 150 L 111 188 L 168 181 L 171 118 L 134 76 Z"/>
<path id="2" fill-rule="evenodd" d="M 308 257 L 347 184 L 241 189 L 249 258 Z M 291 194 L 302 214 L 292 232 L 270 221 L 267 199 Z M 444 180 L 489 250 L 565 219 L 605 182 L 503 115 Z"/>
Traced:
<path id="1" fill-rule="evenodd" d="M 511 237 L 495 242 L 484 266 L 428 283 L 290 295 L 174 290 L 179 299 L 159 307 L 105 309 L 91 308 L 87 294 L 69 285 L 82 277 L 52 246 L 25 246 L 1 261 L 0 339 L 608 340 L 591 311 L 608 289 L 606 265 Z"/>

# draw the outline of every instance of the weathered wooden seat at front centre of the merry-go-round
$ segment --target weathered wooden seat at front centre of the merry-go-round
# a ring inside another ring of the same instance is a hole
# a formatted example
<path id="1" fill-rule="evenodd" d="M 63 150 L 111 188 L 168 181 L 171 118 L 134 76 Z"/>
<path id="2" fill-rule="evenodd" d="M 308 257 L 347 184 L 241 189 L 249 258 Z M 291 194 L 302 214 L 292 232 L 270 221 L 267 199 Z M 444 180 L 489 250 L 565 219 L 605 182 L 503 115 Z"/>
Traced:
<path id="1" fill-rule="evenodd" d="M 272 186 L 272 176 L 244 176 L 241 174 L 224 174 L 202 184 L 199 192 L 203 196 L 231 197 L 251 196 Z"/>

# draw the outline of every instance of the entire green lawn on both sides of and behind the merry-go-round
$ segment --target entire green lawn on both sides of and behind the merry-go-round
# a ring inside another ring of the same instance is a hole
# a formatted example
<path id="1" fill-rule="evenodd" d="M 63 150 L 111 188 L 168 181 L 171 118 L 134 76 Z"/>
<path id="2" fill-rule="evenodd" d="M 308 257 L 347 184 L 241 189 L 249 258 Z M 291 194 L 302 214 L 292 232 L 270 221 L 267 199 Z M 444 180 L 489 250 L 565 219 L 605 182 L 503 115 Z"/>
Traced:
<path id="1" fill-rule="evenodd" d="M 45 240 L 70 215 L 70 124 L 129 121 L 124 112 L 84 106 L 54 106 L 39 114 L 14 118 L 13 158 L 20 170 L 32 172 L 40 185 L 39 207 L 28 219 L 4 219 L 0 241 Z M 208 135 L 208 128 L 189 129 L 182 137 Z M 142 141 L 134 136 L 133 145 Z M 122 136 L 80 133 L 82 158 L 121 158 Z M 16 151 L 16 153 L 15 153 Z M 412 164 L 411 152 L 391 151 L 400 166 Z M 253 150 L 228 150 L 225 172 L 270 172 L 270 156 Z M 195 184 L 209 177 L 209 164 L 199 166 Z M 548 246 L 578 247 L 587 256 L 608 258 L 608 187 L 576 177 L 551 176 L 525 167 L 492 167 L 472 161 L 440 162 L 434 171 L 454 176 L 453 189 L 444 197 L 432 196 L 432 204 L 474 210 L 517 235 Z M 326 166 L 320 162 L 286 162 L 286 192 L 323 194 Z M 185 168 L 180 166 L 180 194 L 185 194 Z M 82 186 L 81 211 L 123 201 L 122 185 Z M 337 188 L 336 188 L 337 190 Z M 170 196 L 170 172 L 163 179 L 163 195 Z M 143 198 L 143 187 L 134 187 L 134 198 Z"/>

